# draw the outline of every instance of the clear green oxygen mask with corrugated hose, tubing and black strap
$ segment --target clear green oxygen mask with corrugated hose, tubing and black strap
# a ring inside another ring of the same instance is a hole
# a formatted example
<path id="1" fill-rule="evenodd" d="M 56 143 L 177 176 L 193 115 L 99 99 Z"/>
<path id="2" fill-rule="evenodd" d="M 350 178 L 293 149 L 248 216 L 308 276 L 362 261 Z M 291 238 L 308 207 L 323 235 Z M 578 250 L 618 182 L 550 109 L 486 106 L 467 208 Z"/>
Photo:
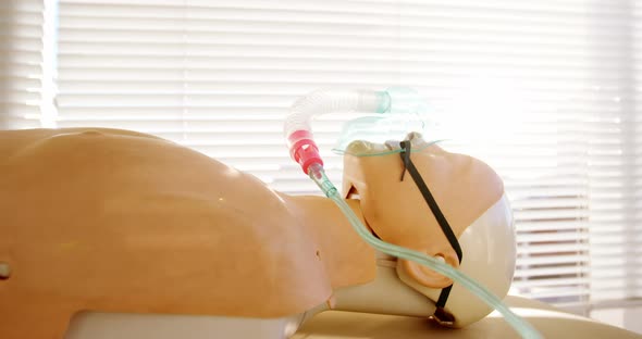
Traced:
<path id="1" fill-rule="evenodd" d="M 291 156 L 299 163 L 303 171 L 319 186 L 323 193 L 335 202 L 339 210 L 345 214 L 355 231 L 357 231 L 357 234 L 371 247 L 398 259 L 419 263 L 450 278 L 455 281 L 454 285 L 464 287 L 479 298 L 479 300 L 483 301 L 483 303 L 497 310 L 497 312 L 499 312 L 523 338 L 541 338 L 541 335 L 530 324 L 508 309 L 497 296 L 493 294 L 486 287 L 470 278 L 460 269 L 456 269 L 425 253 L 388 243 L 371 234 L 369 228 L 366 227 L 360 222 L 359 217 L 355 215 L 345 200 L 341 197 L 338 190 L 325 175 L 323 161 L 313 140 L 311 118 L 320 114 L 333 112 L 365 113 L 361 114 L 360 117 L 355 118 L 345 125 L 342 131 L 342 137 L 334 147 L 334 151 L 354 156 L 394 156 L 398 153 L 397 156 L 399 156 L 399 161 L 403 162 L 405 172 L 406 170 L 408 171 L 412 180 L 416 183 L 417 188 L 424 197 L 427 204 L 430 206 L 431 212 L 435 218 L 440 221 L 440 218 L 444 218 L 444 216 L 434 201 L 434 197 L 432 197 L 425 183 L 423 183 L 423 179 L 419 174 L 420 171 L 416 168 L 410 159 L 411 153 L 422 152 L 425 148 L 440 139 L 433 139 L 432 141 L 416 145 L 412 145 L 410 140 L 406 140 L 409 131 L 413 131 L 416 135 L 430 135 L 430 127 L 434 126 L 434 123 L 431 123 L 430 118 L 427 116 L 428 106 L 423 100 L 420 99 L 419 95 L 412 89 L 395 87 L 390 88 L 386 91 L 319 90 L 303 97 L 292 106 L 291 115 L 284 127 Z M 391 147 L 391 143 L 387 142 L 388 140 L 404 141 L 398 143 L 399 147 Z M 368 141 L 363 143 L 367 147 L 350 147 L 355 141 Z M 445 218 L 444 221 L 441 221 L 440 226 L 448 238 L 452 247 L 457 251 L 459 261 L 461 262 L 461 260 L 464 260 L 464 263 L 466 263 L 467 258 L 461 258 L 461 254 L 466 253 L 466 248 L 464 248 L 462 252 L 459 241 L 453 235 L 452 229 L 449 229 L 447 221 L 445 221 Z M 513 255 L 515 253 L 513 253 Z M 402 276 L 399 276 L 399 278 L 404 280 Z M 448 306 L 447 300 L 449 294 L 450 288 L 445 288 L 441 291 L 439 300 L 434 300 L 437 312 L 433 317 L 445 324 L 448 324 L 450 319 L 460 316 L 458 314 L 448 314 L 447 312 L 444 312 Z M 453 298 L 453 296 L 450 296 L 450 298 Z M 440 310 L 442 313 L 440 313 Z M 467 311 L 464 309 L 461 312 Z"/>

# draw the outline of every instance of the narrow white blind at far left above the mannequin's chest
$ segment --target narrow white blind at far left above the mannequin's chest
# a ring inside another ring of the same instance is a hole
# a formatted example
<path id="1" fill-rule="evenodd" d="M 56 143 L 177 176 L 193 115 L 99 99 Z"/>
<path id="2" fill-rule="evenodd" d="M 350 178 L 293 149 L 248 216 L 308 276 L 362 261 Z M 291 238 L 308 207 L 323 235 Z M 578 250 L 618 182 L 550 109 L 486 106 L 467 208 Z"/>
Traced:
<path id="1" fill-rule="evenodd" d="M 38 126 L 42 0 L 0 1 L 0 129 Z"/>

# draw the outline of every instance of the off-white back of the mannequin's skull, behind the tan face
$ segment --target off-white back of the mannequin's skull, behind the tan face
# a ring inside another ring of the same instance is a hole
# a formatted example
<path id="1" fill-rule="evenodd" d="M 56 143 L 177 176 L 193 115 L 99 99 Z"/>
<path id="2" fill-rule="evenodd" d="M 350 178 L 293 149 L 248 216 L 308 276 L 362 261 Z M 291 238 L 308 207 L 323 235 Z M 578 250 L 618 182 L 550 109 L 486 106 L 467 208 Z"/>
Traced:
<path id="1" fill-rule="evenodd" d="M 459 237 L 464 251 L 459 269 L 499 299 L 506 297 L 515 272 L 516 241 L 508 198 L 502 198 L 476 219 Z M 400 264 L 397 275 L 430 300 L 439 299 L 441 289 L 430 288 L 410 277 Z M 453 286 L 445 311 L 454 317 L 452 327 L 474 323 L 493 310 L 479 297 L 458 284 Z"/>

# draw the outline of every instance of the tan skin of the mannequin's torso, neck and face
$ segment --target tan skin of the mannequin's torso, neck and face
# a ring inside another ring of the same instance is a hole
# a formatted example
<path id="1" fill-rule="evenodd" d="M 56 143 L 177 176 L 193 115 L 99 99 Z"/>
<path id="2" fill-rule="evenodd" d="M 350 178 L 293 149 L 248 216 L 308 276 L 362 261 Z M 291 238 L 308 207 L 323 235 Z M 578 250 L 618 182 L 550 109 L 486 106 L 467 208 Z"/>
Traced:
<path id="1" fill-rule="evenodd" d="M 470 156 L 430 146 L 412 161 L 456 235 L 504 192 Z M 457 266 L 410 176 L 399 183 L 402 171 L 398 154 L 346 155 L 344 192 L 360 198 L 349 205 L 383 240 Z M 0 131 L 0 263 L 11 267 L 0 280 L 3 339 L 62 338 L 85 310 L 287 316 L 375 278 L 373 250 L 329 199 L 275 192 L 133 131 Z M 428 287 L 452 282 L 404 267 Z"/>

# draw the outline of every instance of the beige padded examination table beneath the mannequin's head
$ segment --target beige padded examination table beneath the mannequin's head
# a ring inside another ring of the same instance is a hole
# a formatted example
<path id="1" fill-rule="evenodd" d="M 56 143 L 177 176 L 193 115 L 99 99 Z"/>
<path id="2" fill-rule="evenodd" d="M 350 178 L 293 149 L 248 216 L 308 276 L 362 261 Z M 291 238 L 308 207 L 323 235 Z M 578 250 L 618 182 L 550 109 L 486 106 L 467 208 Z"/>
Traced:
<path id="1" fill-rule="evenodd" d="M 509 296 L 505 302 L 544 338 L 642 338 L 642 335 L 561 312 L 538 301 Z M 466 328 L 448 329 L 421 318 L 330 311 L 317 315 L 294 336 L 294 339 L 304 338 L 471 339 L 519 336 L 496 312 Z"/>

